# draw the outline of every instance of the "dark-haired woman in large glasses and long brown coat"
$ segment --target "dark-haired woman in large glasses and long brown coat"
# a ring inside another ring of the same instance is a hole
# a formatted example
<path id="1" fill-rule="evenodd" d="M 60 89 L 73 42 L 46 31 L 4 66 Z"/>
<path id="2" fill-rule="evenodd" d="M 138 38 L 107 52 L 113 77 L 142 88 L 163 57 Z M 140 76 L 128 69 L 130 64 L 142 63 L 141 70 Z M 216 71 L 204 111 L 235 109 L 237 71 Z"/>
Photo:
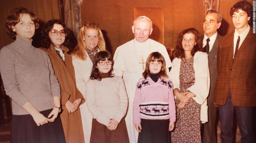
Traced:
<path id="1" fill-rule="evenodd" d="M 61 107 L 60 114 L 67 143 L 84 143 L 82 120 L 79 105 L 84 103 L 83 95 L 76 88 L 75 71 L 72 57 L 67 54 L 69 31 L 62 21 L 48 21 L 41 31 L 41 48 L 50 57 L 54 74 L 60 84 Z"/>

